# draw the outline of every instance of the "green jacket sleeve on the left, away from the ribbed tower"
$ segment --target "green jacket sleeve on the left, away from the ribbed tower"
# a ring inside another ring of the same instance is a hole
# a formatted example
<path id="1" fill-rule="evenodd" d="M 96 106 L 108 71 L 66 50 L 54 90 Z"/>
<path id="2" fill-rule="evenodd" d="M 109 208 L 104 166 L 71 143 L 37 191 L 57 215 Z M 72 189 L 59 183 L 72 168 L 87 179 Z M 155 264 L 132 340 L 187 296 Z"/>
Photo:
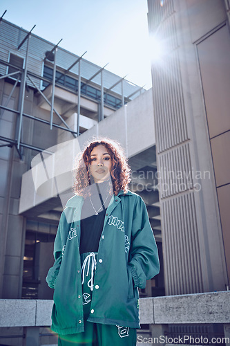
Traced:
<path id="1" fill-rule="evenodd" d="M 50 289 L 55 288 L 55 281 L 57 279 L 59 268 L 61 266 L 61 260 L 63 255 L 62 252 L 64 251 L 64 245 L 66 244 L 66 239 L 64 236 L 64 234 L 66 233 L 65 224 L 66 224 L 66 216 L 65 216 L 65 212 L 62 212 L 59 225 L 57 228 L 57 235 L 55 237 L 55 245 L 54 245 L 54 252 L 53 252 L 53 255 L 55 257 L 55 263 L 49 269 L 48 274 L 46 276 L 46 282 L 48 283 L 48 286 L 50 287 Z"/>

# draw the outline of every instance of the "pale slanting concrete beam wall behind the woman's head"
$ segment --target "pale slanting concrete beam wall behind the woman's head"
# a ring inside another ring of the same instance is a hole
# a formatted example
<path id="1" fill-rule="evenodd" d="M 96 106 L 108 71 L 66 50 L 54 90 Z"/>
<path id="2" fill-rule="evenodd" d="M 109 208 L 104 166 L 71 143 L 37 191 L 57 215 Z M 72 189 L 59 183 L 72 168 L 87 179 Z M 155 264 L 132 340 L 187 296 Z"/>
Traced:
<path id="1" fill-rule="evenodd" d="M 62 194 L 70 189 L 73 185 L 71 171 L 75 157 L 88 140 L 96 136 L 106 136 L 117 140 L 124 147 L 128 157 L 152 147 L 155 144 L 155 135 L 151 90 L 142 93 L 135 100 L 91 127 L 79 138 L 47 148 L 48 151 L 55 152 L 54 156 L 46 158 L 49 180 L 44 171 L 44 165 L 41 163 L 41 157 L 37 155 L 39 166 L 35 166 L 22 177 L 19 212 L 30 210 L 51 197 L 56 197 L 57 193 Z"/>

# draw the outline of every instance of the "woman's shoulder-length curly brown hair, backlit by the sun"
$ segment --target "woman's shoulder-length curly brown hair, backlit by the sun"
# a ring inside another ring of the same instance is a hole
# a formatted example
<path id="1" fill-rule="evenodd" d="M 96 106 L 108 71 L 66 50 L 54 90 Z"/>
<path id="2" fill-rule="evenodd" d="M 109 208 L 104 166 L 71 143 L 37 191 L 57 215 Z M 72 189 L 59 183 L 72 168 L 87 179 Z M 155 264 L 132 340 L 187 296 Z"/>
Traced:
<path id="1" fill-rule="evenodd" d="M 117 196 L 119 190 L 123 190 L 124 194 L 128 191 L 128 183 L 131 181 L 131 168 L 128 165 L 124 150 L 115 140 L 109 138 L 97 138 L 92 140 L 85 149 L 79 154 L 77 159 L 77 167 L 75 168 L 73 192 L 77 195 L 86 197 L 90 195 L 90 170 L 91 163 L 90 154 L 93 148 L 98 145 L 104 145 L 111 155 L 111 181 L 113 190 L 111 192 Z"/>

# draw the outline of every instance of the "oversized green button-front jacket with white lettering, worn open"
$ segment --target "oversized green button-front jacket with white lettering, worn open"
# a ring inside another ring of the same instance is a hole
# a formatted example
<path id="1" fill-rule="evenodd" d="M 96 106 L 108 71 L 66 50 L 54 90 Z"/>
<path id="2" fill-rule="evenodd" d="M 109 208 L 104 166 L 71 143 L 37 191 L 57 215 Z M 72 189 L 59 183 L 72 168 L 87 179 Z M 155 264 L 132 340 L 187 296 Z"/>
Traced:
<path id="1" fill-rule="evenodd" d="M 55 238 L 55 263 L 46 281 L 55 289 L 52 326 L 58 334 L 84 331 L 79 254 L 83 197 L 68 200 Z M 93 230 L 92 230 L 93 232 Z M 143 199 L 113 194 L 99 241 L 89 322 L 140 328 L 139 292 L 160 271 L 157 246 Z M 102 260 L 102 261 L 99 261 Z"/>

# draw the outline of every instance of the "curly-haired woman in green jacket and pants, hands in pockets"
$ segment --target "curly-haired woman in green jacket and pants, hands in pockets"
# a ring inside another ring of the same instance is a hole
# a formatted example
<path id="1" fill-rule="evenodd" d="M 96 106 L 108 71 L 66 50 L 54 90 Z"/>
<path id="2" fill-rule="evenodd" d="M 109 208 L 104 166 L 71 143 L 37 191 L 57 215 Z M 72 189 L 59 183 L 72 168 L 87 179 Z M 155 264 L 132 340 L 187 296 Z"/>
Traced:
<path id="1" fill-rule="evenodd" d="M 129 181 L 115 141 L 95 140 L 82 152 L 46 277 L 55 289 L 51 329 L 59 345 L 136 345 L 137 287 L 160 266 L 146 206 Z"/>

